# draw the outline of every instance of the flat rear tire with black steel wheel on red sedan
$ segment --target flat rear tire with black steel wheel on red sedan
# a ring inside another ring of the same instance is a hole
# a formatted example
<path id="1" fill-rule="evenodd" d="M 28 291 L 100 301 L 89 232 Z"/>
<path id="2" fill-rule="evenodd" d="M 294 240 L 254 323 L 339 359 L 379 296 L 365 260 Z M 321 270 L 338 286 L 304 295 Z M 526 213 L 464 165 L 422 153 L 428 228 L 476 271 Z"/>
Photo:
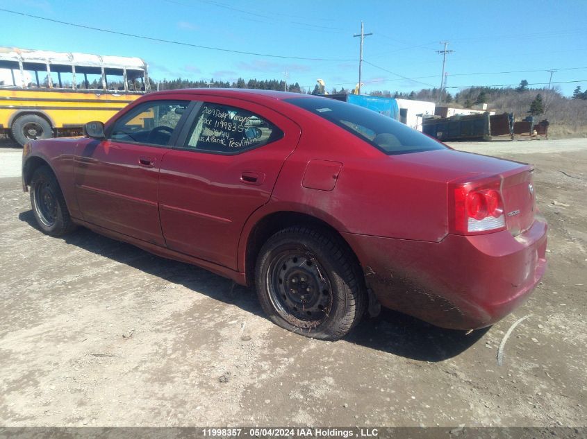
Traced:
<path id="1" fill-rule="evenodd" d="M 320 340 L 338 340 L 361 320 L 367 294 L 352 252 L 328 230 L 288 227 L 267 240 L 256 289 L 272 322 Z"/>

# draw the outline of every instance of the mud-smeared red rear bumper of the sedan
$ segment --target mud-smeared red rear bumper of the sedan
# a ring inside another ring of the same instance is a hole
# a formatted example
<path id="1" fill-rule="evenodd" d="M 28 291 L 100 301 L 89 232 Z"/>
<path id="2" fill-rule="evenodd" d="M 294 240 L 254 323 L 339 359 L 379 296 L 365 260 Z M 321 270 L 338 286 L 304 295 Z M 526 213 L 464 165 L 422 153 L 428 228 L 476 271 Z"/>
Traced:
<path id="1" fill-rule="evenodd" d="M 440 243 L 344 233 L 384 307 L 439 327 L 493 325 L 518 307 L 546 269 L 547 224 L 526 232 L 449 234 Z"/>

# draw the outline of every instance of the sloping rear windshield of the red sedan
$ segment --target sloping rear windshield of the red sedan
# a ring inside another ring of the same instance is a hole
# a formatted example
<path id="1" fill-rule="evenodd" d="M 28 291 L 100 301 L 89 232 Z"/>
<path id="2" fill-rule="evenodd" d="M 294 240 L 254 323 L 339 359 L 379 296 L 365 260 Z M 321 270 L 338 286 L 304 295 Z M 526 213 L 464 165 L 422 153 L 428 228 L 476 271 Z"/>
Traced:
<path id="1" fill-rule="evenodd" d="M 331 121 L 388 155 L 445 149 L 442 144 L 383 114 L 328 98 L 285 99 Z"/>

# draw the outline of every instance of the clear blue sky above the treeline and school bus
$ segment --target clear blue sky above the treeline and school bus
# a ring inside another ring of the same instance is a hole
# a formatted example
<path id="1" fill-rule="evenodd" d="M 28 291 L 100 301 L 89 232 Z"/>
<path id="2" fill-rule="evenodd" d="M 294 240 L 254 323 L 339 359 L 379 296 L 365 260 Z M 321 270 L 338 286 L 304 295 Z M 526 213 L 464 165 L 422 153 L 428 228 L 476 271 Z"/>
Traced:
<path id="1" fill-rule="evenodd" d="M 245 1 L 92 2 L 0 0 L 0 8 L 75 24 L 235 51 L 154 42 L 0 11 L 0 46 L 138 56 L 151 77 L 283 79 L 313 88 L 354 87 L 358 38 L 365 22 L 363 92 L 438 87 L 441 41 L 447 86 L 548 83 L 565 95 L 587 89 L 586 0 L 561 1 Z M 534 71 L 529 71 L 534 70 Z M 515 72 L 517 73 L 497 73 Z M 409 79 L 407 79 L 409 78 Z M 561 83 L 576 81 L 577 83 Z M 541 86 L 536 86 L 541 87 Z M 449 88 L 455 94 L 458 89 Z"/>

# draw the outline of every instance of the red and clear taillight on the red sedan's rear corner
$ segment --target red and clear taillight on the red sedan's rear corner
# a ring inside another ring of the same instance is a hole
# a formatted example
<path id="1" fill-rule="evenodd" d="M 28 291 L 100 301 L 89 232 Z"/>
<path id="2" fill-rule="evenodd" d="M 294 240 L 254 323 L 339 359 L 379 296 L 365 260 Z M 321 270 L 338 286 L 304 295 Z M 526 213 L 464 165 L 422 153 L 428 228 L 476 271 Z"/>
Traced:
<path id="1" fill-rule="evenodd" d="M 476 234 L 506 227 L 501 180 L 457 184 L 454 191 L 452 232 Z"/>

